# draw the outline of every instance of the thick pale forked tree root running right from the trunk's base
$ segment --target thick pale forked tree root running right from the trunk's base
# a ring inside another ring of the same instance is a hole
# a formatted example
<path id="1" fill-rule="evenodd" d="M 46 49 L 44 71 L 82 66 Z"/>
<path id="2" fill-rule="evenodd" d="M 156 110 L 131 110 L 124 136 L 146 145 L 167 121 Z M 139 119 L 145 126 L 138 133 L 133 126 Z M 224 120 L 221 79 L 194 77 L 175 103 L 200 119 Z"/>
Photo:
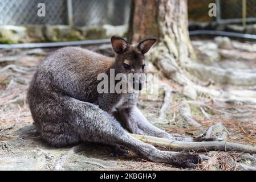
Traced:
<path id="1" fill-rule="evenodd" d="M 182 86 L 187 86 L 191 92 L 208 94 L 213 100 L 221 102 L 243 102 L 245 104 L 256 105 L 256 91 L 247 89 L 214 89 L 202 85 L 198 85 L 192 80 L 213 80 L 217 84 L 230 84 L 240 86 L 250 86 L 256 84 L 256 74 L 253 69 L 223 69 L 220 67 L 209 66 L 183 57 L 174 59 L 169 51 L 168 39 L 163 40 L 166 43 L 159 43 L 153 48 L 149 59 L 160 69 L 168 78 L 173 79 Z M 177 55 L 176 55 L 177 56 Z M 180 55 L 182 56 L 182 55 Z M 192 79 L 190 79 L 192 78 Z"/>

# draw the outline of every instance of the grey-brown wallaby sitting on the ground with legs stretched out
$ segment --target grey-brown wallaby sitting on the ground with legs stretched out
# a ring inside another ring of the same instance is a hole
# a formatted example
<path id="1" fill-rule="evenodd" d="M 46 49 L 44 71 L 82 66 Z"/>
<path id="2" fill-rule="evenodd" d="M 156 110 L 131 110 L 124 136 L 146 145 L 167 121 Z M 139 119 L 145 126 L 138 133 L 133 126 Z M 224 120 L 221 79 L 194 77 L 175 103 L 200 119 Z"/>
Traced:
<path id="1" fill-rule="evenodd" d="M 133 138 L 133 134 L 175 139 L 147 121 L 137 108 L 137 93 L 98 93 L 97 75 L 115 69 L 115 74 L 145 73 L 144 54 L 156 42 L 139 44 L 112 36 L 115 58 L 79 47 L 55 51 L 38 67 L 32 78 L 27 101 L 36 129 L 52 146 L 99 142 L 123 146 L 152 162 L 194 167 L 209 159 L 204 155 L 161 151 Z M 134 83 L 133 83 L 134 84 Z M 142 82 L 139 81 L 139 90 Z M 179 138 L 178 138 L 179 139 Z"/>

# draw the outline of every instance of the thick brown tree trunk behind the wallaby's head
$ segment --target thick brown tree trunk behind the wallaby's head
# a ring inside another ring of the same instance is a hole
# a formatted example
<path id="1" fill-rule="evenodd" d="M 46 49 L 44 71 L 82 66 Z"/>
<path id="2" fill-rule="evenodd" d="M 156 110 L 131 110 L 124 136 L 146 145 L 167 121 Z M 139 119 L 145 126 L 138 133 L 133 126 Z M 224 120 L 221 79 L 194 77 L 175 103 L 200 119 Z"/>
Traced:
<path id="1" fill-rule="evenodd" d="M 150 57 L 166 77 L 175 77 L 182 63 L 196 58 L 189 39 L 186 0 L 133 0 L 128 32 L 129 43 L 157 37 Z"/>

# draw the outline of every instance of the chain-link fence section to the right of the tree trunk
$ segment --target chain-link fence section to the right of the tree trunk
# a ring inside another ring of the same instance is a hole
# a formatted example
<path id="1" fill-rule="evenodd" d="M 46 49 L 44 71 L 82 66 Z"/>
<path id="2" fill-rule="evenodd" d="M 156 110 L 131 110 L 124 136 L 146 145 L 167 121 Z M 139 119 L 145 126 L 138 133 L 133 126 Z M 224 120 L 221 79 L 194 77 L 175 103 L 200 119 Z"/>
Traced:
<path id="1" fill-rule="evenodd" d="M 216 4 L 217 16 L 209 16 L 210 3 Z M 197 22 L 246 23 L 256 22 L 255 0 L 189 0 L 189 20 Z"/>

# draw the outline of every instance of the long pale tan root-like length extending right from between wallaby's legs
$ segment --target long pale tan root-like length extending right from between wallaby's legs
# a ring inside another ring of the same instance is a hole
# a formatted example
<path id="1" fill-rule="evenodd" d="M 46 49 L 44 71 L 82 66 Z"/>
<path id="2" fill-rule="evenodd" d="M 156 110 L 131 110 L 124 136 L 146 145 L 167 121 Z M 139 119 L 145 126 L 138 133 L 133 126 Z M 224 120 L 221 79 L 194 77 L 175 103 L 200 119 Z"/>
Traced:
<path id="1" fill-rule="evenodd" d="M 143 142 L 150 143 L 156 147 L 169 148 L 174 151 L 237 151 L 254 154 L 256 153 L 256 146 L 249 146 L 246 144 L 231 143 L 231 142 L 182 142 L 165 138 L 157 138 L 146 135 L 131 134 Z"/>

